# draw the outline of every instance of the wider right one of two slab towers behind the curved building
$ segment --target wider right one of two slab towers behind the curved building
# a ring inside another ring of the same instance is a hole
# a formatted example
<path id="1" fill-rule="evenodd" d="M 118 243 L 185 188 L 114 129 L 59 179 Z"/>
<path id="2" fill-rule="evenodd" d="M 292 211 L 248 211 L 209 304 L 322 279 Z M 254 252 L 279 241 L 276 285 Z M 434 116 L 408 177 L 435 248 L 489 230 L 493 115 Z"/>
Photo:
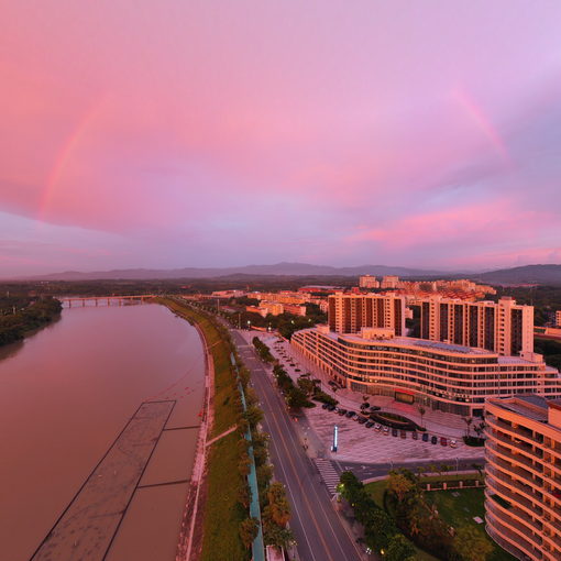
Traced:
<path id="1" fill-rule="evenodd" d="M 534 352 L 534 307 L 510 297 L 471 302 L 432 296 L 420 305 L 420 337 L 509 356 Z"/>

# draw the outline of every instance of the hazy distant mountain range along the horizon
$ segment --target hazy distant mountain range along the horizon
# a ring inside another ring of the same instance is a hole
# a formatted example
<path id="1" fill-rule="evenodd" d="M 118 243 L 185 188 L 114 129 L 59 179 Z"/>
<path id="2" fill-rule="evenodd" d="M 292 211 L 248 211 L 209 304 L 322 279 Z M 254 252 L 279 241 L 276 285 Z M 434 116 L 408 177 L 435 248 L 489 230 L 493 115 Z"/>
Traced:
<path id="1" fill-rule="evenodd" d="M 526 265 L 486 273 L 443 272 L 386 265 L 361 265 L 355 267 L 331 267 L 307 263 L 277 263 L 275 265 L 245 265 L 240 267 L 173 270 L 125 268 L 81 273 L 67 271 L 50 275 L 28 277 L 29 280 L 148 280 L 148 279 L 202 279 L 255 276 L 307 276 L 344 277 L 359 275 L 398 275 L 404 278 L 473 278 L 488 284 L 561 284 L 561 265 Z"/>

